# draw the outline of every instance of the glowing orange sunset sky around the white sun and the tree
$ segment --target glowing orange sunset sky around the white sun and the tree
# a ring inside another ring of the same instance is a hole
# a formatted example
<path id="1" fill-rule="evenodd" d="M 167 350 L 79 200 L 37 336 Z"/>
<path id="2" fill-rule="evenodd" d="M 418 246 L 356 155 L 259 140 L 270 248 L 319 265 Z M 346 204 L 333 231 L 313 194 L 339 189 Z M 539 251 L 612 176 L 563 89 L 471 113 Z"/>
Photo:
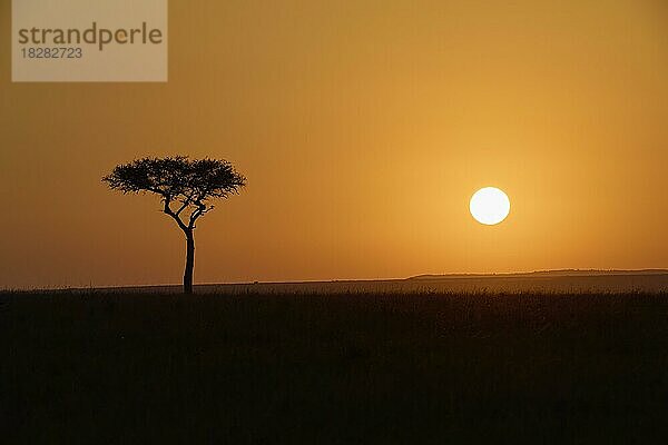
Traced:
<path id="1" fill-rule="evenodd" d="M 157 199 L 100 182 L 174 154 L 248 178 L 197 283 L 668 267 L 665 1 L 170 0 L 158 85 L 11 83 L 10 6 L 0 287 L 179 283 Z"/>

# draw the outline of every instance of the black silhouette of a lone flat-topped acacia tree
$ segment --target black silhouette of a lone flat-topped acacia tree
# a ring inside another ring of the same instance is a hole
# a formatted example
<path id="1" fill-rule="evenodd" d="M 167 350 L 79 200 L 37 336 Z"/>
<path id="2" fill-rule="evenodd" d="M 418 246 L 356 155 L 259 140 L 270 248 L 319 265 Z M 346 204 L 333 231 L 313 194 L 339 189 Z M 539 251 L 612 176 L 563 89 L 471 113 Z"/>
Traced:
<path id="1" fill-rule="evenodd" d="M 176 156 L 137 159 L 117 166 L 102 181 L 124 195 L 150 192 L 160 197 L 163 211 L 186 235 L 184 293 L 193 294 L 195 222 L 214 209 L 209 204 L 212 199 L 238 195 L 246 178 L 226 160 L 190 160 L 187 156 Z"/>

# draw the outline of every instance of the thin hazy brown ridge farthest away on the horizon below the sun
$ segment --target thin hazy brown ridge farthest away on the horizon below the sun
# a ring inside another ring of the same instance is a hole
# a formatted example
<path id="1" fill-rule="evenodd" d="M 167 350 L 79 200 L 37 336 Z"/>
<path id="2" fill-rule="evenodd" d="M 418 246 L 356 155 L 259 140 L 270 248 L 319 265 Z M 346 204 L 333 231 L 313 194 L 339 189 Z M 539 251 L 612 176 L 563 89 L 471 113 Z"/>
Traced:
<path id="1" fill-rule="evenodd" d="M 668 275 L 668 269 L 554 269 L 500 274 L 425 274 L 407 279 L 448 279 L 448 278 L 520 278 L 520 277 L 600 277 L 600 276 L 638 276 Z"/>

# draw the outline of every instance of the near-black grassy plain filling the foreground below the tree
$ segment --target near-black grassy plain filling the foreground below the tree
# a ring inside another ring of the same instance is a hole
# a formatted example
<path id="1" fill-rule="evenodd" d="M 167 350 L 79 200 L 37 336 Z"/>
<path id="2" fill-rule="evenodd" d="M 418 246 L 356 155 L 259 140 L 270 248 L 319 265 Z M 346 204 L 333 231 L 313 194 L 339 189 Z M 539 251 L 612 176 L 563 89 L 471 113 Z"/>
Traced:
<path id="1" fill-rule="evenodd" d="M 3 443 L 665 443 L 668 294 L 0 294 Z"/>

